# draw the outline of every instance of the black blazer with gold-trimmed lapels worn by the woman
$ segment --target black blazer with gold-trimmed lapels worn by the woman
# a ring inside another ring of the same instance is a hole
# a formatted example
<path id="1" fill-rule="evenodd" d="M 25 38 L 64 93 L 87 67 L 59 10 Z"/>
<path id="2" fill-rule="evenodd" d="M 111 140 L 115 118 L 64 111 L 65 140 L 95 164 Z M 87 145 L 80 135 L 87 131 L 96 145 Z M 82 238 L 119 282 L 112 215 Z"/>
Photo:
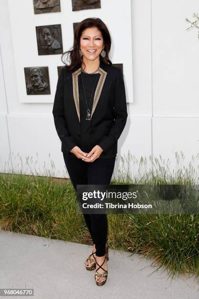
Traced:
<path id="1" fill-rule="evenodd" d="M 67 155 L 72 154 L 70 150 L 75 146 L 81 148 L 78 88 L 80 72 L 80 68 L 73 72 L 62 68 L 52 111 L 61 140 L 61 151 Z M 128 114 L 121 69 L 100 61 L 99 72 L 100 79 L 91 111 L 90 150 L 99 145 L 103 149 L 101 157 L 117 153 L 118 139 Z"/>

